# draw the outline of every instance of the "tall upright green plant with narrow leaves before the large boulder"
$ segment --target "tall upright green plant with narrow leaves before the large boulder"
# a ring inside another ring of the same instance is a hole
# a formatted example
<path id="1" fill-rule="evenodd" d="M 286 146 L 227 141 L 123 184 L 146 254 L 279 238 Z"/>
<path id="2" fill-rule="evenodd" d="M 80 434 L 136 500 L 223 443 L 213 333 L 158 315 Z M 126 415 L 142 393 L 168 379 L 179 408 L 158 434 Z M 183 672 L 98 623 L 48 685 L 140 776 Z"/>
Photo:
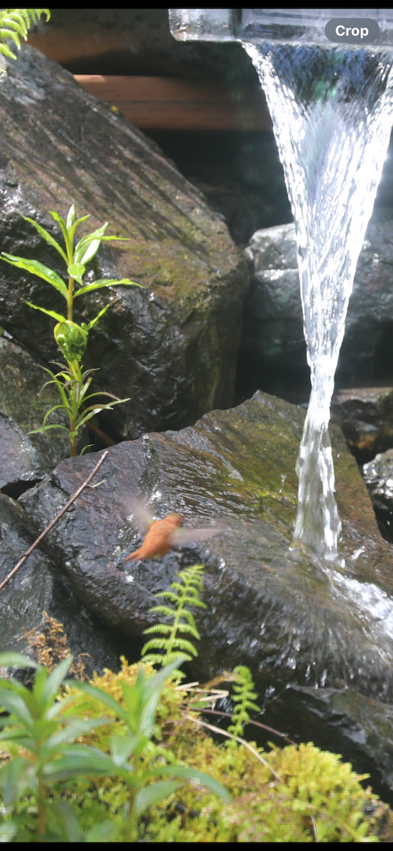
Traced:
<path id="1" fill-rule="evenodd" d="M 92 293 L 96 289 L 104 287 L 112 287 L 119 284 L 122 284 L 122 286 L 133 287 L 140 287 L 141 285 L 134 281 L 130 281 L 129 278 L 122 278 L 119 281 L 113 278 L 109 280 L 100 278 L 93 283 L 84 284 L 83 275 L 86 271 L 86 265 L 88 262 L 93 260 L 95 254 L 97 254 L 97 251 L 100 248 L 100 243 L 112 240 L 122 242 L 124 240 L 122 237 L 106 236 L 105 230 L 108 225 L 106 222 L 105 225 L 97 228 L 97 230 L 93 231 L 93 233 L 89 233 L 82 237 L 82 239 L 80 239 L 74 247 L 77 227 L 81 225 L 83 221 L 89 219 L 89 216 L 85 215 L 81 219 L 76 220 L 74 204 L 72 204 L 66 220 L 63 220 L 58 213 L 51 212 L 51 215 L 60 225 L 65 241 L 65 250 L 60 246 L 57 240 L 54 239 L 52 234 L 46 231 L 41 225 L 38 225 L 36 221 L 30 219 L 29 216 L 23 216 L 23 218 L 30 222 L 31 225 L 36 228 L 39 235 L 43 237 L 45 242 L 52 248 L 55 248 L 60 254 L 61 259 L 65 263 L 68 277 L 67 284 L 65 284 L 56 271 L 49 269 L 48 266 L 44 266 L 43 263 L 40 263 L 38 260 L 26 260 L 26 258 L 16 257 L 14 254 L 7 254 L 4 251 L 2 252 L 2 260 L 9 263 L 10 266 L 16 266 L 19 269 L 24 269 L 31 275 L 40 277 L 43 281 L 50 283 L 66 301 L 66 316 L 61 316 L 61 314 L 56 311 L 51 311 L 44 307 L 33 305 L 30 301 L 26 301 L 26 304 L 29 307 L 32 307 L 36 311 L 46 313 L 47 316 L 56 319 L 57 323 L 54 327 L 54 339 L 56 340 L 56 343 L 67 363 L 67 366 L 65 367 L 64 364 L 54 362 L 56 366 L 60 367 L 60 372 L 58 373 L 53 373 L 50 369 L 45 368 L 45 371 L 50 375 L 50 380 L 47 381 L 44 386 L 54 384 L 59 391 L 61 402 L 59 405 L 54 405 L 53 408 L 48 410 L 43 421 L 43 426 L 31 431 L 30 434 L 36 434 L 39 431 L 44 432 L 47 429 L 65 429 L 65 431 L 68 431 L 70 435 L 71 457 L 75 457 L 77 454 L 77 433 L 81 426 L 83 426 L 85 422 L 88 422 L 88 420 L 91 420 L 94 414 L 98 414 L 99 411 L 111 410 L 113 405 L 128 402 L 128 399 L 119 399 L 112 393 L 107 392 L 88 393 L 88 389 L 92 381 L 91 373 L 94 372 L 94 370 L 88 369 L 86 372 L 83 372 L 81 360 L 88 344 L 88 332 L 91 328 L 94 328 L 95 323 L 104 315 L 109 305 L 104 307 L 89 323 L 81 323 L 78 325 L 73 321 L 74 301 L 75 299 L 80 298 L 81 295 Z M 88 401 L 102 396 L 111 397 L 114 401 L 111 403 L 100 403 L 99 401 L 94 401 L 94 403 L 89 404 L 87 408 L 84 407 Z M 53 414 L 54 411 L 59 409 L 65 410 L 69 419 L 69 427 L 60 426 L 58 424 L 47 424 L 48 417 Z"/>

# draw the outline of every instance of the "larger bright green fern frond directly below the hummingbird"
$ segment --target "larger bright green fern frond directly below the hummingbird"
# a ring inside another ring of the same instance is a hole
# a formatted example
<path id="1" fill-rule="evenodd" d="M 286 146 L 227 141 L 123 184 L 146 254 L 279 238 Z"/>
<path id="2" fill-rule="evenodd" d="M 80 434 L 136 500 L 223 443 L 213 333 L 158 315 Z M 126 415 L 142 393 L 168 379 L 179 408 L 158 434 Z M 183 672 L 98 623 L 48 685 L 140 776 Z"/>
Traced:
<path id="1" fill-rule="evenodd" d="M 179 582 L 173 582 L 168 591 L 160 591 L 156 595 L 157 597 L 165 597 L 170 603 L 174 604 L 174 608 L 164 605 L 154 606 L 150 609 L 151 613 L 162 614 L 164 617 L 173 620 L 173 624 L 154 624 L 145 630 L 145 635 L 164 636 L 162 638 L 151 638 L 145 644 L 141 656 L 146 662 L 151 662 L 153 665 L 168 665 L 169 662 L 180 657 L 190 661 L 193 656 L 197 656 L 197 650 L 190 639 L 179 637 L 179 633 L 182 636 L 188 634 L 196 641 L 200 638 L 194 616 L 187 607 L 206 608 L 205 603 L 202 603 L 200 599 L 203 569 L 202 564 L 194 564 L 191 568 L 180 571 Z M 162 652 L 151 653 L 151 650 Z M 181 671 L 175 671 L 175 676 L 183 678 L 185 674 Z"/>

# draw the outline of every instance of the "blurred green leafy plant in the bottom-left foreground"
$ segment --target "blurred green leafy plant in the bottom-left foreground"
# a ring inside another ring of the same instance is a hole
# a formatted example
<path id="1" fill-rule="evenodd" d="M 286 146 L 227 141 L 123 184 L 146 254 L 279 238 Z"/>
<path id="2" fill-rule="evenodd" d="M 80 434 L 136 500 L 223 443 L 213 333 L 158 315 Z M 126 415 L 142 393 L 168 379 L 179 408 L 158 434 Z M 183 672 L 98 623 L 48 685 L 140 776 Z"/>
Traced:
<path id="1" fill-rule="evenodd" d="M 184 781 L 206 786 L 224 801 L 230 801 L 225 787 L 195 768 L 179 763 L 162 765 L 162 760 L 156 765 L 145 764 L 146 746 L 151 744 L 162 688 L 178 660 L 153 677 L 145 677 L 141 667 L 134 687 L 122 683 L 123 704 L 91 683 L 76 683 L 77 688 L 107 706 L 123 723 L 125 734 L 111 735 L 110 756 L 98 748 L 74 744 L 82 735 L 107 725 L 108 719 L 83 717 L 83 705 L 77 707 L 76 714 L 72 694 L 59 699 L 59 688 L 71 662 L 70 656 L 48 674 L 45 667 L 20 654 L 0 655 L 0 665 L 37 668 L 31 691 L 13 678 L 0 680 L 0 705 L 9 712 L 9 717 L 3 720 L 7 728 L 0 734 L 0 741 L 13 757 L 0 768 L 7 816 L 0 834 L 3 841 L 111 842 L 120 837 L 123 842 L 134 842 L 136 824 L 145 809 L 168 797 Z M 64 781 L 81 776 L 117 776 L 128 788 L 122 818 L 117 822 L 101 821 L 85 837 L 79 830 L 74 810 L 61 801 L 59 794 L 56 796 Z M 174 777 L 178 780 L 171 780 Z M 26 816 L 31 816 L 31 808 L 37 818 L 32 819 L 32 830 L 26 831 Z M 30 812 L 26 813 L 26 809 Z"/>

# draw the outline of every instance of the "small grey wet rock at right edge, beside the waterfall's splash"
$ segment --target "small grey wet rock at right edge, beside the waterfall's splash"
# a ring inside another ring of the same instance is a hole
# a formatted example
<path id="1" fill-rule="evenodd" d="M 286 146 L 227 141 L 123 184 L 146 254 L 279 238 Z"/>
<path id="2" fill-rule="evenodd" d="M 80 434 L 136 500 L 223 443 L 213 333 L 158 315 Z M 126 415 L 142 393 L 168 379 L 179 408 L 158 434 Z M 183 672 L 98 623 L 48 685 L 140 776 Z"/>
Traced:
<path id="1" fill-rule="evenodd" d="M 363 465 L 363 476 L 381 533 L 393 543 L 393 449 Z"/>

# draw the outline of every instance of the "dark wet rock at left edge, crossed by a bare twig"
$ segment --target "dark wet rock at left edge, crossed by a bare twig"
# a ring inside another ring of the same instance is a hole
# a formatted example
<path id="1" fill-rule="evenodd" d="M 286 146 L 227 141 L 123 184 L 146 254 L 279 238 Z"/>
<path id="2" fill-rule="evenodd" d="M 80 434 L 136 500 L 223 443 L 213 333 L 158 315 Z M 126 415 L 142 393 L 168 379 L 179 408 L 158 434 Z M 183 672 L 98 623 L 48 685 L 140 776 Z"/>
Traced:
<path id="1" fill-rule="evenodd" d="M 0 581 L 36 537 L 22 506 L 0 494 Z M 43 628 L 45 611 L 64 625 L 74 655 L 89 654 L 83 657 L 89 674 L 104 667 L 118 669 L 119 655 L 128 653 L 129 642 L 119 641 L 115 631 L 103 627 L 94 618 L 75 597 L 65 578 L 59 577 L 50 559 L 37 549 L 0 591 L 0 652 L 26 652 L 23 631 Z"/>

